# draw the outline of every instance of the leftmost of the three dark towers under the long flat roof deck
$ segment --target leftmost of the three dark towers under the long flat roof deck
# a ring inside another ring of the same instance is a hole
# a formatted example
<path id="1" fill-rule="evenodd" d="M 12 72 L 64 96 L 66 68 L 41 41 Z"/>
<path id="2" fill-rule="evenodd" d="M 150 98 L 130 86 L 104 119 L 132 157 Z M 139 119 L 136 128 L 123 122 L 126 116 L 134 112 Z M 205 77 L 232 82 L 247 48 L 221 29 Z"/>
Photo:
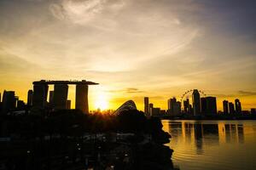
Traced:
<path id="1" fill-rule="evenodd" d="M 36 108 L 44 108 L 47 104 L 48 85 L 34 84 L 32 106 Z"/>

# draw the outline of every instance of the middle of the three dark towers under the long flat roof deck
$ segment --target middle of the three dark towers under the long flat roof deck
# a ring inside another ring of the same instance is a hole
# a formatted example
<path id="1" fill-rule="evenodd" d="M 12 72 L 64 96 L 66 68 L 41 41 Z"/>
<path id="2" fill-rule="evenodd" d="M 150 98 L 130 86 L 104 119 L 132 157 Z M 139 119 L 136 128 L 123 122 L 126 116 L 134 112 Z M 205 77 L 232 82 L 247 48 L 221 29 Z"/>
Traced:
<path id="1" fill-rule="evenodd" d="M 67 108 L 67 84 L 55 84 L 54 88 L 54 109 L 61 110 Z"/>

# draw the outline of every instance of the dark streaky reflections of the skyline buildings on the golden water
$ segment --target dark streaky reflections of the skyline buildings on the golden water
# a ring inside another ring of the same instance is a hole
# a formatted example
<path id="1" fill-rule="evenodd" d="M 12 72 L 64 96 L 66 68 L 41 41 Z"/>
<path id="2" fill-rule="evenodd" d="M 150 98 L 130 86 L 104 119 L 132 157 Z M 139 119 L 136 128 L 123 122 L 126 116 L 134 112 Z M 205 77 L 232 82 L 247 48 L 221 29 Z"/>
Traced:
<path id="1" fill-rule="evenodd" d="M 197 154 L 203 152 L 203 144 L 243 143 L 244 129 L 237 123 L 170 122 L 169 133 L 194 143 Z M 178 140 L 179 138 L 177 138 Z"/>

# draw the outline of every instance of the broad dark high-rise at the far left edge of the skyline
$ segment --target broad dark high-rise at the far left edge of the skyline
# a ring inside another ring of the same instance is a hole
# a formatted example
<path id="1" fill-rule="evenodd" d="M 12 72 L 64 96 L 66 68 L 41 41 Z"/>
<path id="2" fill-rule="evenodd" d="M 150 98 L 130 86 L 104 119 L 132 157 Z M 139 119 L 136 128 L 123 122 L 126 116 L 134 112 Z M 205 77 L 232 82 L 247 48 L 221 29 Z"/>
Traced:
<path id="1" fill-rule="evenodd" d="M 7 114 L 10 111 L 15 111 L 16 97 L 14 91 L 3 91 L 2 114 Z"/>

